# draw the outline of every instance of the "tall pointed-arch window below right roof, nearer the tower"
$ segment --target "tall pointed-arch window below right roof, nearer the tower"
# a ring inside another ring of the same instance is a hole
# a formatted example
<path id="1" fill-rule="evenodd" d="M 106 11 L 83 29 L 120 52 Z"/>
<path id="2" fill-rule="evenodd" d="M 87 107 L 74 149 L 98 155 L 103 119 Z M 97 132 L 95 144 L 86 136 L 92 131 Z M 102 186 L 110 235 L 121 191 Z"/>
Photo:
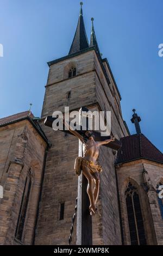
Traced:
<path id="1" fill-rule="evenodd" d="M 126 187 L 125 196 L 131 245 L 146 245 L 139 194 L 131 182 Z"/>

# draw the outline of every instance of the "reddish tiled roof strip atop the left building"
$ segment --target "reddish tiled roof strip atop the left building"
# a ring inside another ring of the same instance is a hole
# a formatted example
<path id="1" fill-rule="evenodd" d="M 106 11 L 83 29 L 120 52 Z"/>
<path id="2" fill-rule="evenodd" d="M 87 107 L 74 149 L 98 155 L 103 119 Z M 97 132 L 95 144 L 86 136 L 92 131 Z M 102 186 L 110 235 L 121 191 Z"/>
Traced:
<path id="1" fill-rule="evenodd" d="M 34 115 L 29 111 L 24 111 L 21 113 L 17 113 L 14 115 L 9 115 L 9 117 L 0 118 L 0 126 L 9 124 L 13 121 L 18 121 L 19 119 L 26 118 L 26 117 L 34 117 Z"/>

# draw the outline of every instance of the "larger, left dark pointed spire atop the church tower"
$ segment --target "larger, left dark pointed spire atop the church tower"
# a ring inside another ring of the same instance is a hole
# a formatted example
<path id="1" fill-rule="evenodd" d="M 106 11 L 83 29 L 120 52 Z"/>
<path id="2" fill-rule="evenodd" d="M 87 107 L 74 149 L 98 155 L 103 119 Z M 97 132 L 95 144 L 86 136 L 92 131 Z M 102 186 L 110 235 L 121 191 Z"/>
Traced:
<path id="1" fill-rule="evenodd" d="M 71 45 L 71 48 L 70 48 L 70 51 L 68 54 L 72 54 L 74 52 L 79 52 L 79 51 L 89 47 L 89 43 L 87 40 L 85 27 L 84 27 L 82 5 L 83 5 L 83 3 L 80 2 L 81 7 L 80 7 L 78 25 L 77 25 L 76 33 L 74 35 L 72 45 Z"/>

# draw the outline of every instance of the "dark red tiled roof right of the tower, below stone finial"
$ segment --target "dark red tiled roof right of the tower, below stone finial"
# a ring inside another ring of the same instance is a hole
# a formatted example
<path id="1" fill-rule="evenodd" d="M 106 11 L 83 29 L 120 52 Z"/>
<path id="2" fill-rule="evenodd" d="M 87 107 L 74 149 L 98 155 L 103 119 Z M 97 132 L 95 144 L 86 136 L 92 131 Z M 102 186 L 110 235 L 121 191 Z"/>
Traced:
<path id="1" fill-rule="evenodd" d="M 116 164 L 148 159 L 163 163 L 163 154 L 143 134 L 121 138 L 122 148 L 118 150 Z"/>

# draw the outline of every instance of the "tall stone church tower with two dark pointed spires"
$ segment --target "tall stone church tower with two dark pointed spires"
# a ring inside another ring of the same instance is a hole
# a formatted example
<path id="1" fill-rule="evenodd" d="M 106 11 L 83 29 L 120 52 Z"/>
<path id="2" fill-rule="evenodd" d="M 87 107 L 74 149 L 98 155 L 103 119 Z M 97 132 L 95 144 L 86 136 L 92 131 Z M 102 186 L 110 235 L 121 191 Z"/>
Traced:
<path id="1" fill-rule="evenodd" d="M 121 95 L 112 75 L 108 60 L 102 58 L 91 28 L 87 40 L 82 3 L 79 20 L 68 55 L 48 63 L 49 74 L 43 101 L 40 125 L 52 147 L 48 150 L 43 185 L 36 223 L 35 245 L 67 245 L 71 219 L 77 198 L 77 176 L 74 160 L 78 156 L 78 139 L 53 131 L 43 121 L 54 111 L 78 111 L 85 106 L 90 110 L 111 111 L 111 132 L 118 139 L 129 135 L 121 112 Z M 98 208 L 101 216 L 92 218 L 94 245 L 121 245 L 121 223 L 115 173 L 115 150 L 102 147 L 99 164 L 101 174 Z M 72 244 L 76 244 L 76 225 Z"/>

